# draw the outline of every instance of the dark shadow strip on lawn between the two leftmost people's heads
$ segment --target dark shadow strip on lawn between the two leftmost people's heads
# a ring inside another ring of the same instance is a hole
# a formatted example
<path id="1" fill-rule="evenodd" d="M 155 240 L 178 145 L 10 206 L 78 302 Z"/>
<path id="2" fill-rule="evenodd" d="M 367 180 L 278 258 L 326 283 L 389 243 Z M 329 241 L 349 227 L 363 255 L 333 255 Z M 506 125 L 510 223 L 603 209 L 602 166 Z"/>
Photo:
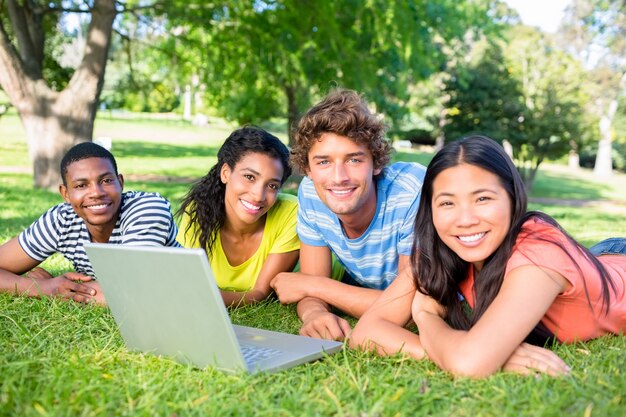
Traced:
<path id="1" fill-rule="evenodd" d="M 113 149 L 116 158 L 187 158 L 187 157 L 215 157 L 216 146 L 181 146 L 157 142 L 115 142 Z"/>

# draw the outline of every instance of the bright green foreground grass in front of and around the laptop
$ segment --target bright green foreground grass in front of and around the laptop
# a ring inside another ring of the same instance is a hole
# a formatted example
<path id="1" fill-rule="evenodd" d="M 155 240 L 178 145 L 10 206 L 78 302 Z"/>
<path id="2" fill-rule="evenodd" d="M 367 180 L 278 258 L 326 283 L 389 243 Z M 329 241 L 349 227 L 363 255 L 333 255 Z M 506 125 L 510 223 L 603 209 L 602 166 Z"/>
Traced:
<path id="1" fill-rule="evenodd" d="M 344 350 L 276 374 L 223 374 L 128 351 L 109 312 L 0 295 L 0 415 L 623 415 L 626 338 L 556 347 L 567 378 L 454 379 L 432 363 Z M 295 331 L 276 302 L 238 324 Z"/>

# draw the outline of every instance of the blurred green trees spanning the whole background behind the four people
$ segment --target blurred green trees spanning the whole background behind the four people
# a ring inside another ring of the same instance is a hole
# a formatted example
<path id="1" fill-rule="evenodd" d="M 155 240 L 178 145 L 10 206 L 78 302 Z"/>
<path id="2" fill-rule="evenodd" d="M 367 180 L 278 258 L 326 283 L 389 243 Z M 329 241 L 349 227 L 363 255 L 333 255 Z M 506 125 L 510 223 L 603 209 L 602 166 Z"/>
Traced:
<path id="1" fill-rule="evenodd" d="M 43 76 L 61 90 L 81 62 L 90 2 L 44 5 Z M 529 188 L 545 160 L 597 165 L 607 140 L 613 169 L 626 170 L 621 0 L 571 0 L 556 33 L 524 26 L 499 0 L 117 5 L 100 112 L 278 120 L 290 136 L 311 104 L 344 87 L 364 93 L 393 140 L 441 146 L 484 133 L 507 142 Z M 17 44 L 9 14 L 0 23 Z"/>

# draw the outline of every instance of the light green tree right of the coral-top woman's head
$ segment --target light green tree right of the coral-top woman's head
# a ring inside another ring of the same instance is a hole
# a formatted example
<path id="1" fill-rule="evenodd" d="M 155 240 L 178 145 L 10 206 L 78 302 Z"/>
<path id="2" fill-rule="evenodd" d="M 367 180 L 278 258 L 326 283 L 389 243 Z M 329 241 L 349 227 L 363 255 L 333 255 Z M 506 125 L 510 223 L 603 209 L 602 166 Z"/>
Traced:
<path id="1" fill-rule="evenodd" d="M 579 149 L 585 140 L 582 85 L 586 72 L 549 36 L 534 28 L 511 29 L 506 56 L 520 80 L 525 106 L 522 136 L 512 141 L 516 164 L 530 191 L 539 165 Z"/>

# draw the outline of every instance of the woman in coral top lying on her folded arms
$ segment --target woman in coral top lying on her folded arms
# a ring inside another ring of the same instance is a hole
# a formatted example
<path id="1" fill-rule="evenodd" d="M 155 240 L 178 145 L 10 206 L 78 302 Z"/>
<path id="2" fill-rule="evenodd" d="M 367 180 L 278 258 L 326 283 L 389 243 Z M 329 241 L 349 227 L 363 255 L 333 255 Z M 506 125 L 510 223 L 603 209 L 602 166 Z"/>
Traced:
<path id="1" fill-rule="evenodd" d="M 560 375 L 569 367 L 540 347 L 547 341 L 625 332 L 626 239 L 592 254 L 526 206 L 496 142 L 445 146 L 424 179 L 411 268 L 363 315 L 351 344 L 427 357 L 457 375 Z M 404 327 L 411 318 L 419 335 Z"/>

